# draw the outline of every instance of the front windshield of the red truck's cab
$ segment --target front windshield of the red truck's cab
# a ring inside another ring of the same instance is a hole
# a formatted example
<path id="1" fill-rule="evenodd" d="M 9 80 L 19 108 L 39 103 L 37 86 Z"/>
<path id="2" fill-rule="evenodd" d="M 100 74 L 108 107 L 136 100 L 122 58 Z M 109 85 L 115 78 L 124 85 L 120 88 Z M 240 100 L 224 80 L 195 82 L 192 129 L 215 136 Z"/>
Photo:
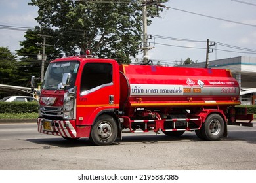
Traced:
<path id="1" fill-rule="evenodd" d="M 62 82 L 62 76 L 64 73 L 70 73 L 72 75 L 70 86 L 66 89 L 73 88 L 75 86 L 78 67 L 79 61 L 62 61 L 50 63 L 45 72 L 45 77 L 43 78 L 41 89 L 57 90 L 58 84 Z"/>

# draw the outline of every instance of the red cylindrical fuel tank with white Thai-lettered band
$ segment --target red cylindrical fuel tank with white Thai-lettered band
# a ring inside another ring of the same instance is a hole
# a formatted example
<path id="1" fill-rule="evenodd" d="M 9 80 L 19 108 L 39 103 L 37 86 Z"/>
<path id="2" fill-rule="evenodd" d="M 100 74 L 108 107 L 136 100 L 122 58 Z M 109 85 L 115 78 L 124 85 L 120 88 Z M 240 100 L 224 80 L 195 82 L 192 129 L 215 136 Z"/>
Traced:
<path id="1" fill-rule="evenodd" d="M 239 105 L 240 86 L 227 69 L 120 65 L 121 107 Z"/>

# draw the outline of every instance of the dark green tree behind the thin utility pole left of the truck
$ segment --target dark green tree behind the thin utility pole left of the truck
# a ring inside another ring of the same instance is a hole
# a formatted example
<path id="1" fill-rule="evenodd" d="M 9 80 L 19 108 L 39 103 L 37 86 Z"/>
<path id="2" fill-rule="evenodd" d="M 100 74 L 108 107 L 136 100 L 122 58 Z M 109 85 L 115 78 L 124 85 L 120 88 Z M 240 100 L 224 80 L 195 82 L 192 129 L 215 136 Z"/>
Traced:
<path id="1" fill-rule="evenodd" d="M 20 50 L 16 50 L 17 55 L 21 56 L 18 64 L 18 73 L 20 78 L 17 80 L 18 86 L 29 86 L 31 76 L 39 78 L 41 76 L 41 61 L 37 59 L 37 54 L 42 53 L 42 46 L 38 43 L 43 43 L 44 33 L 54 35 L 51 29 L 40 29 L 35 27 L 35 30 L 28 29 L 24 37 L 24 41 L 20 41 Z M 53 37 L 47 37 L 47 45 L 54 45 L 56 40 Z M 47 63 L 58 56 L 60 51 L 54 46 L 45 46 L 45 54 L 47 55 Z"/>

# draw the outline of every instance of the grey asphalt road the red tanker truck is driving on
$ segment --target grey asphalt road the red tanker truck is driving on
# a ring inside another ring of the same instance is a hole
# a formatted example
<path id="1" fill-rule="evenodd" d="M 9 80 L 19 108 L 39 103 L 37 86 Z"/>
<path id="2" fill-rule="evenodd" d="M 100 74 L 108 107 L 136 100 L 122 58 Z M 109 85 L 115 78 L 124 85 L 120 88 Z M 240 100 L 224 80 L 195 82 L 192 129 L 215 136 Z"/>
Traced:
<path id="1" fill-rule="evenodd" d="M 35 123 L 0 124 L 0 170 L 256 170 L 255 122 L 228 131 L 221 141 L 125 133 L 111 146 L 93 146 L 38 133 Z"/>

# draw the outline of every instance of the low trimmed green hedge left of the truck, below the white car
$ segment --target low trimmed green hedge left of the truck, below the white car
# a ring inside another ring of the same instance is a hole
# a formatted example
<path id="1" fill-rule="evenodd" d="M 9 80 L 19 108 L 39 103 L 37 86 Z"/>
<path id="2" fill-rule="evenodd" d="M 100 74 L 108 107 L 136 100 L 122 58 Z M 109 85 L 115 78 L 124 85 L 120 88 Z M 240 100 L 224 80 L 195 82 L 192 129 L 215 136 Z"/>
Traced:
<path id="1" fill-rule="evenodd" d="M 22 103 L 22 102 L 0 102 L 0 113 L 31 113 L 38 112 L 38 103 Z"/>

